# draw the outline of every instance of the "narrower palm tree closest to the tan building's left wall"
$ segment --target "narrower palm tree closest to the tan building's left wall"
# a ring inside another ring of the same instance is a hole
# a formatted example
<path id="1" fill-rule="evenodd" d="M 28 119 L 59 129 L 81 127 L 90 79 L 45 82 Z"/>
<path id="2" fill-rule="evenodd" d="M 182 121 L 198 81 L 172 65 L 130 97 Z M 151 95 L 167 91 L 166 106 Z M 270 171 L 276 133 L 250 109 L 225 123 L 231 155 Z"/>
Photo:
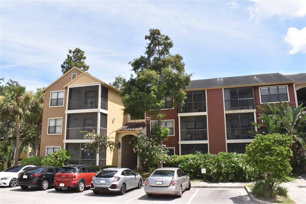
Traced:
<path id="1" fill-rule="evenodd" d="M 42 89 L 36 89 L 36 93 L 34 95 L 34 112 L 36 113 L 37 117 L 35 118 L 36 122 L 36 137 L 35 137 L 35 146 L 33 151 L 33 156 L 37 156 L 38 152 L 38 139 L 40 133 L 40 126 L 43 120 L 43 101 L 45 98 L 45 93 L 43 93 Z"/>

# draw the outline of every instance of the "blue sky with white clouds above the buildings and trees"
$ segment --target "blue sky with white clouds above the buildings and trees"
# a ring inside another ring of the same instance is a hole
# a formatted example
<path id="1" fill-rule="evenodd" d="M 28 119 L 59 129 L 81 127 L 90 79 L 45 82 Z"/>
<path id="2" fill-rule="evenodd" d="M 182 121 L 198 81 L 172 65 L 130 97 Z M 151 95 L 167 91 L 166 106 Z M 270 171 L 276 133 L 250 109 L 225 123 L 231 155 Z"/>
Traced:
<path id="1" fill-rule="evenodd" d="M 306 72 L 306 1 L 1 1 L 0 76 L 47 86 L 79 47 L 91 75 L 129 78 L 150 28 L 173 40 L 194 80 Z"/>

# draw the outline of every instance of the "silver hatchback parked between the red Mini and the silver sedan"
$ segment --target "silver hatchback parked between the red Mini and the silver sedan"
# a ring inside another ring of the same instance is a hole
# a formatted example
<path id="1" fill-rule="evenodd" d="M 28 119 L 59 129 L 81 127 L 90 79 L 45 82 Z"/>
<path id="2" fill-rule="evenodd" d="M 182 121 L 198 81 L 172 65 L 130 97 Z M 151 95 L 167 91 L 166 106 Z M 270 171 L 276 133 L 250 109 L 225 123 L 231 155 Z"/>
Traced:
<path id="1" fill-rule="evenodd" d="M 142 177 L 126 168 L 106 168 L 92 177 L 90 190 L 95 194 L 100 191 L 118 192 L 124 195 L 125 191 L 132 188 L 141 188 Z"/>

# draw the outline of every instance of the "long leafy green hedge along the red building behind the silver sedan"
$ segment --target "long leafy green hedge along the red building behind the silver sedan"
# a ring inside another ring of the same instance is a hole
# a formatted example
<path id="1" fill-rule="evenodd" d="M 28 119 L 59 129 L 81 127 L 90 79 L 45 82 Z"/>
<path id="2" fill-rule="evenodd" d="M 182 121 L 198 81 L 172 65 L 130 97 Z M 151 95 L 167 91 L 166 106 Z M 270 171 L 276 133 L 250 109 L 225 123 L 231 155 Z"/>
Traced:
<path id="1" fill-rule="evenodd" d="M 163 166 L 179 167 L 189 173 L 191 179 L 203 178 L 201 168 L 206 168 L 205 179 L 213 182 L 248 182 L 259 176 L 257 169 L 249 165 L 246 155 L 236 153 L 166 156 Z"/>

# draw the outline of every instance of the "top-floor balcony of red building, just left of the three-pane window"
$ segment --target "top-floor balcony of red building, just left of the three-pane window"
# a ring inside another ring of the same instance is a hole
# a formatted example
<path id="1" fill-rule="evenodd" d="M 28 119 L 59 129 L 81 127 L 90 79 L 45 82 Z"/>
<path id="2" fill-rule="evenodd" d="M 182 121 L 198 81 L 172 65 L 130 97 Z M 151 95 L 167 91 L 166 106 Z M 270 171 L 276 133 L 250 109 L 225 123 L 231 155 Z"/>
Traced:
<path id="1" fill-rule="evenodd" d="M 225 110 L 254 109 L 252 87 L 224 89 Z"/>

